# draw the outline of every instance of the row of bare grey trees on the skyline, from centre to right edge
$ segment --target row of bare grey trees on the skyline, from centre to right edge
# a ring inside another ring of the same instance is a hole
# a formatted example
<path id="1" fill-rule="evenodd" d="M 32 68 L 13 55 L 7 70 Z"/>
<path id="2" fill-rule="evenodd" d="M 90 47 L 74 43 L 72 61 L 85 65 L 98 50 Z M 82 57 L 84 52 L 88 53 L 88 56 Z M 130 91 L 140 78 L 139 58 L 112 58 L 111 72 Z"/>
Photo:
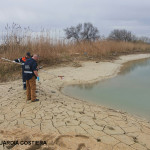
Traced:
<path id="1" fill-rule="evenodd" d="M 150 43 L 150 38 L 146 36 L 137 37 L 131 31 L 125 29 L 114 29 L 111 31 L 108 37 L 101 37 L 97 27 L 92 23 L 78 24 L 77 26 L 71 26 L 64 29 L 67 39 L 75 41 L 95 41 L 95 40 L 113 40 L 113 41 L 125 41 L 125 42 L 143 42 Z"/>

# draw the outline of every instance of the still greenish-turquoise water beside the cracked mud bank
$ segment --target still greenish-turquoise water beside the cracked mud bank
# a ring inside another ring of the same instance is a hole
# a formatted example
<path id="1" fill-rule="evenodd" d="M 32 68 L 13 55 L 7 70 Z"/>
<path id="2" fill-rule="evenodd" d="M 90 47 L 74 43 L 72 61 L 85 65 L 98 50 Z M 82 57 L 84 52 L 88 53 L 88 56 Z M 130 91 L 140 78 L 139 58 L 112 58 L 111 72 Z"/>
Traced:
<path id="1" fill-rule="evenodd" d="M 63 92 L 150 120 L 150 59 L 126 63 L 121 73 L 112 79 L 70 85 Z"/>

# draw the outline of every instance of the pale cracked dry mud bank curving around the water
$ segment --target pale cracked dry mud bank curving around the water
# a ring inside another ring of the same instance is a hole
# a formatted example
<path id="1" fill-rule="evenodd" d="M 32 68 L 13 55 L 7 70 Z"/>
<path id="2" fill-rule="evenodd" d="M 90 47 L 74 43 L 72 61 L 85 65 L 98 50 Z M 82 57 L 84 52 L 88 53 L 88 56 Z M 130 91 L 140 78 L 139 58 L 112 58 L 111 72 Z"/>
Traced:
<path id="1" fill-rule="evenodd" d="M 0 84 L 0 140 L 29 136 L 31 140 L 46 139 L 47 147 L 60 150 L 150 149 L 147 120 L 77 100 L 60 91 L 67 84 L 113 77 L 123 63 L 148 57 L 150 54 L 127 55 L 112 62 L 80 62 L 80 67 L 72 64 L 41 70 L 37 103 L 25 101 L 21 80 Z"/>

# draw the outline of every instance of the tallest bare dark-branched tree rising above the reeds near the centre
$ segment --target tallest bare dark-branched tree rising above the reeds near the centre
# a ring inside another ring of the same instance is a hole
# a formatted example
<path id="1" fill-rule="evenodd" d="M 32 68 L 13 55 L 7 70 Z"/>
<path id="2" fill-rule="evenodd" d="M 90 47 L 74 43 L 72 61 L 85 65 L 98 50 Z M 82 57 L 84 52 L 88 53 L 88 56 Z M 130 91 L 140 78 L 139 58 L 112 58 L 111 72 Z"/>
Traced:
<path id="1" fill-rule="evenodd" d="M 91 23 L 78 24 L 64 29 L 66 38 L 75 41 L 95 41 L 100 38 L 99 30 Z"/>

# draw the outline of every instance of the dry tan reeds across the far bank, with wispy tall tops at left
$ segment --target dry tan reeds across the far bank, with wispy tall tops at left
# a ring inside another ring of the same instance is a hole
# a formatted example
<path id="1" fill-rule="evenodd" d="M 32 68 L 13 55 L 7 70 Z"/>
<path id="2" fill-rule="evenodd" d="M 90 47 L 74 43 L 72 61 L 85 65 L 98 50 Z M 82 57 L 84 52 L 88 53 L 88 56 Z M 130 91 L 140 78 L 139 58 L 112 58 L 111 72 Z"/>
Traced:
<path id="1" fill-rule="evenodd" d="M 113 59 L 122 54 L 150 52 L 150 44 L 130 43 L 100 40 L 95 42 L 68 42 L 64 39 L 52 38 L 50 32 L 41 31 L 33 36 L 29 28 L 22 28 L 13 24 L 6 26 L 1 36 L 0 57 L 11 60 L 25 56 L 26 52 L 40 55 L 40 63 L 55 65 L 63 62 L 91 59 Z M 4 74 L 16 72 L 18 67 L 10 66 L 10 63 L 0 61 L 0 78 Z M 6 67 L 7 66 L 7 67 Z M 10 69 L 15 68 L 15 69 Z"/>

